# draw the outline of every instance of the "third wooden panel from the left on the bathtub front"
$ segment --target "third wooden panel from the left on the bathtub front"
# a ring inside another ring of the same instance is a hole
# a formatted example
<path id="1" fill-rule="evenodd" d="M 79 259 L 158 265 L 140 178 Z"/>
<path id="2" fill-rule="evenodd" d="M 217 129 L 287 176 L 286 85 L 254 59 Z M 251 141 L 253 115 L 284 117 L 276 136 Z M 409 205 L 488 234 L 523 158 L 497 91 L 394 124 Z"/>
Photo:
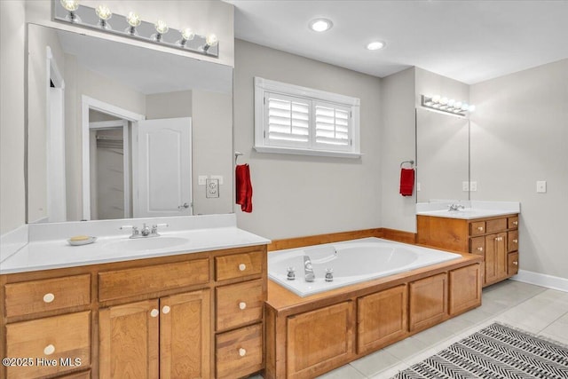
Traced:
<path id="1" fill-rule="evenodd" d="M 447 317 L 447 274 L 438 273 L 410 283 L 410 331 L 438 324 Z"/>

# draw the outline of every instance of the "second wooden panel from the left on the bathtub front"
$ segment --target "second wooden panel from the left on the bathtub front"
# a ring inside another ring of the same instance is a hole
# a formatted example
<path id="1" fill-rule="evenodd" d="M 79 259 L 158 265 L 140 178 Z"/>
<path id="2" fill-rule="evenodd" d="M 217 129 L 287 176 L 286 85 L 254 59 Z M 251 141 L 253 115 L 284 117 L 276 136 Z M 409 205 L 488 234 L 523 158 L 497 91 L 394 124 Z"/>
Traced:
<path id="1" fill-rule="evenodd" d="M 357 300 L 357 352 L 375 351 L 408 333 L 406 285 Z"/>

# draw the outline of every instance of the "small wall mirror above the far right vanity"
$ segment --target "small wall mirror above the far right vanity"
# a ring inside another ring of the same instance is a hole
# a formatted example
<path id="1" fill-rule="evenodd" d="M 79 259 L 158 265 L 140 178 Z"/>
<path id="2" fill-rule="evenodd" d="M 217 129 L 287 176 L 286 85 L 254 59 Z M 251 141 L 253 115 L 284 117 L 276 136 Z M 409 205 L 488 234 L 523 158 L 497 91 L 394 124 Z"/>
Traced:
<path id="1" fill-rule="evenodd" d="M 469 119 L 416 109 L 416 201 L 469 200 Z"/>

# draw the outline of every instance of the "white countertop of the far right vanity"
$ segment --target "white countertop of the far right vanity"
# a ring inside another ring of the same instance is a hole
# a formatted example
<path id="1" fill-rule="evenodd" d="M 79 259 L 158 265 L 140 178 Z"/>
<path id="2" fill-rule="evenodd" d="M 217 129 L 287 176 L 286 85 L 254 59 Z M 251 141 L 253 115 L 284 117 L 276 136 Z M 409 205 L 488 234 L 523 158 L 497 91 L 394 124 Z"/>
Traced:
<path id="1" fill-rule="evenodd" d="M 448 210 L 451 204 L 461 205 L 464 209 Z M 520 212 L 521 205 L 517 201 L 430 201 L 416 204 L 416 215 L 466 220 Z"/>

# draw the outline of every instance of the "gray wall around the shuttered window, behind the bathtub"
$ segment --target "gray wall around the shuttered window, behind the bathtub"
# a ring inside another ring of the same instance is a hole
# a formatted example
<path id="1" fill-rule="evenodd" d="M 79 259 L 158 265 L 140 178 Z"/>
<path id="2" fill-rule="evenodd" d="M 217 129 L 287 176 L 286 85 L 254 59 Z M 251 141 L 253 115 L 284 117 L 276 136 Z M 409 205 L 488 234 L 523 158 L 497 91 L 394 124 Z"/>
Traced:
<path id="1" fill-rule="evenodd" d="M 254 76 L 361 99 L 363 157 L 256 153 Z M 380 88 L 374 76 L 236 40 L 234 148 L 253 186 L 253 212 L 235 206 L 239 226 L 272 239 L 381 226 Z"/>

